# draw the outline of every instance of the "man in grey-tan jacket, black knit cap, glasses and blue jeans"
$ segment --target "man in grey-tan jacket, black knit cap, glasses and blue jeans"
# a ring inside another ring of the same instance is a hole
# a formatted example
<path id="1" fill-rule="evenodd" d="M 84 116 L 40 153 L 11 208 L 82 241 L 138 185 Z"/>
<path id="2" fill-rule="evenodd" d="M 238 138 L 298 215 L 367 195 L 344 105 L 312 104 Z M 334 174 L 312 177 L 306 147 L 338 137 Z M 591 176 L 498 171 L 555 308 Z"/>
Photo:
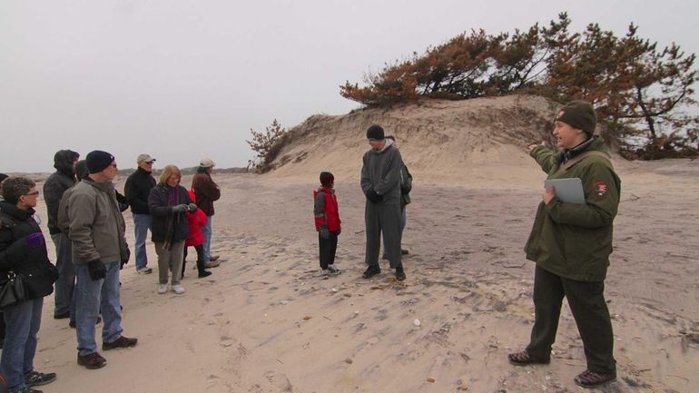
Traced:
<path id="1" fill-rule="evenodd" d="M 74 186 L 68 200 L 69 236 L 77 284 L 76 330 L 78 364 L 102 368 L 107 361 L 97 352 L 94 326 L 102 312 L 102 349 L 133 347 L 137 339 L 122 335 L 119 269 L 129 259 L 125 225 L 112 180 L 116 162 L 112 154 L 95 150 L 85 158 L 88 177 Z"/>

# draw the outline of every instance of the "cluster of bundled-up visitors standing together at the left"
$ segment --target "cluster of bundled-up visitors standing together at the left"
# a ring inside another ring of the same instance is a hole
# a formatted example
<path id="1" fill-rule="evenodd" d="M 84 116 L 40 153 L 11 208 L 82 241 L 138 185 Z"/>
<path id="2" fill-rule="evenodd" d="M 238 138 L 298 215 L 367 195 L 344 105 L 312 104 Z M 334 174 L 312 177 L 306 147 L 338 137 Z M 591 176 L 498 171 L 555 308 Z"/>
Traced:
<path id="1" fill-rule="evenodd" d="M 44 182 L 55 266 L 48 260 L 34 211 L 39 196 L 35 182 L 21 176 L 0 178 L 0 286 L 15 290 L 19 288 L 15 285 L 18 280 L 25 286 L 21 297 L 3 295 L 0 304 L 0 325 L 4 328 L 0 377 L 5 378 L 12 393 L 40 393 L 33 387 L 56 378 L 55 373 L 34 370 L 41 310 L 44 297 L 54 291 L 54 282 L 54 319 L 70 319 L 70 327 L 76 329 L 79 365 L 89 369 L 106 365 L 95 340 L 95 325 L 102 319 L 103 350 L 137 344 L 138 339 L 122 334 L 120 301 L 119 271 L 131 257 L 122 215 L 129 206 L 136 235 L 137 271 L 153 271 L 147 266 L 145 251 L 145 237 L 150 230 L 158 254 L 160 293 L 167 291 L 171 274 L 172 291 L 184 292 L 180 280 L 185 241 L 197 250 L 199 277 L 207 277 L 211 272 L 206 269 L 218 266 L 218 257 L 211 256 L 208 249 L 213 201 L 221 196 L 211 178 L 211 159 L 202 160 L 188 191 L 180 185 L 182 174 L 174 165 L 165 166 L 160 182 L 155 182 L 155 160 L 141 154 L 123 196 L 113 185 L 117 163 L 112 154 L 93 151 L 84 161 L 79 158 L 70 150 L 56 152 L 56 172 Z"/>

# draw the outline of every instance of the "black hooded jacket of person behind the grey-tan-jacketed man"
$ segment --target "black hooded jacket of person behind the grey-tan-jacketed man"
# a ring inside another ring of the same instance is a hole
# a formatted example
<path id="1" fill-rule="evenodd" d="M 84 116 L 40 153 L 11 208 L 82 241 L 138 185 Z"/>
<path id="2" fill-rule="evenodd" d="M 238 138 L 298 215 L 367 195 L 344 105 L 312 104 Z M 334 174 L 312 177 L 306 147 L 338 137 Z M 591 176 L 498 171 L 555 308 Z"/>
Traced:
<path id="1" fill-rule="evenodd" d="M 54 168 L 56 171 L 44 182 L 44 201 L 48 215 L 48 231 L 54 235 L 60 233 L 58 229 L 58 205 L 66 190 L 73 187 L 75 172 L 73 163 L 80 155 L 72 150 L 61 150 L 54 155 Z"/>

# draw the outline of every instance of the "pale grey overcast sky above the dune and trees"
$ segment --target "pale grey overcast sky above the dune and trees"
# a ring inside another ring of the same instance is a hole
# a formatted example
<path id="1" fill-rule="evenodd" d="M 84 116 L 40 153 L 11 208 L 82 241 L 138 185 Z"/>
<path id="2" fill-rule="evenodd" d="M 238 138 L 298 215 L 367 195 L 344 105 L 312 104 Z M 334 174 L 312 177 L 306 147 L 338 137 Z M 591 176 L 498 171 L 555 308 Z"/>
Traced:
<path id="1" fill-rule="evenodd" d="M 157 168 L 245 166 L 250 129 L 358 107 L 340 84 L 471 29 L 566 11 L 699 53 L 699 2 L 2 0 L 0 172 L 52 172 L 54 152 L 147 152 Z"/>

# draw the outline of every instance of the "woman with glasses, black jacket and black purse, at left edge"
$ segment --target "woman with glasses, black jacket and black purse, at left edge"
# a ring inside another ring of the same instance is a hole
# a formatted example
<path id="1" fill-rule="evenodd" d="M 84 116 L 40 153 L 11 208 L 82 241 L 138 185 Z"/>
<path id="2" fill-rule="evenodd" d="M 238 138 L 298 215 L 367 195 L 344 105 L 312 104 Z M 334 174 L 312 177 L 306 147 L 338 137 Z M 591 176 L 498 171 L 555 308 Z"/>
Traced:
<path id="1" fill-rule="evenodd" d="M 36 339 L 44 296 L 54 291 L 58 271 L 48 260 L 46 242 L 34 221 L 39 196 L 25 177 L 2 182 L 0 201 L 0 306 L 5 317 L 5 346 L 0 369 L 10 393 L 36 393 L 31 387 L 53 382 L 55 373 L 34 370 Z"/>

